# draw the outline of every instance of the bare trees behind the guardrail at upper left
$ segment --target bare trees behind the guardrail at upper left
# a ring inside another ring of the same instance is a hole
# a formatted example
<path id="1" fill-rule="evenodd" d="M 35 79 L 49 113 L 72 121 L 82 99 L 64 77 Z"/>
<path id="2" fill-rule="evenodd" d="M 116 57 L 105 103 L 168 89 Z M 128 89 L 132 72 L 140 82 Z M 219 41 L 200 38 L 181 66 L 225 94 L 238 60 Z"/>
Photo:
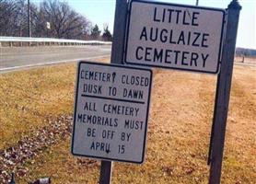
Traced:
<path id="1" fill-rule="evenodd" d="M 28 37 L 29 13 L 32 37 L 111 40 L 107 25 L 102 31 L 87 17 L 79 14 L 66 2 L 43 0 L 39 5 L 28 0 L 0 0 L 0 36 Z"/>

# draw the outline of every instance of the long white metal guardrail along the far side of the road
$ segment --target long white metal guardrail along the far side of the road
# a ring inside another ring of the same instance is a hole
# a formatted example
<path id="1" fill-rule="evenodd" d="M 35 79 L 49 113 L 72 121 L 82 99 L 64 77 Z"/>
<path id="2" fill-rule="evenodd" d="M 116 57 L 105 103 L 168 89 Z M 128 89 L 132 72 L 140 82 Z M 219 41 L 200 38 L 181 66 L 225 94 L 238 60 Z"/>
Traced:
<path id="1" fill-rule="evenodd" d="M 6 44 L 7 43 L 7 44 Z M 29 37 L 0 37 L 0 47 L 15 46 L 15 43 L 19 43 L 17 46 L 23 46 L 23 43 L 31 45 L 111 45 L 111 41 L 100 40 L 67 40 L 67 39 L 52 39 L 52 38 L 29 38 Z"/>

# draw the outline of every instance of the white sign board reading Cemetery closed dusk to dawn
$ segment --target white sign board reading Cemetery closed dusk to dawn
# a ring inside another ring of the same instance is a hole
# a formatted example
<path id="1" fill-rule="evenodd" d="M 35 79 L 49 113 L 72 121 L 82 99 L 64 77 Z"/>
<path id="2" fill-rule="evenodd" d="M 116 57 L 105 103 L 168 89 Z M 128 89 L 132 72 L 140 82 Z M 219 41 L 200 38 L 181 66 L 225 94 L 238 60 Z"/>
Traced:
<path id="1" fill-rule="evenodd" d="M 148 69 L 79 63 L 72 153 L 141 164 L 151 80 Z"/>

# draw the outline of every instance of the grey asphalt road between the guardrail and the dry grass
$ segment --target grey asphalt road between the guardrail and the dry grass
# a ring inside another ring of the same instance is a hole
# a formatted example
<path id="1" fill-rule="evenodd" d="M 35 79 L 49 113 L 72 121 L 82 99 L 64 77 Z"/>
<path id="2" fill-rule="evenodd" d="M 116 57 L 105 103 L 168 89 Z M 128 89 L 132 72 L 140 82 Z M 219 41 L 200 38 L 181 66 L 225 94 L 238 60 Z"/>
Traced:
<path id="1" fill-rule="evenodd" d="M 111 45 L 0 47 L 0 72 L 37 65 L 74 62 L 111 54 Z"/>

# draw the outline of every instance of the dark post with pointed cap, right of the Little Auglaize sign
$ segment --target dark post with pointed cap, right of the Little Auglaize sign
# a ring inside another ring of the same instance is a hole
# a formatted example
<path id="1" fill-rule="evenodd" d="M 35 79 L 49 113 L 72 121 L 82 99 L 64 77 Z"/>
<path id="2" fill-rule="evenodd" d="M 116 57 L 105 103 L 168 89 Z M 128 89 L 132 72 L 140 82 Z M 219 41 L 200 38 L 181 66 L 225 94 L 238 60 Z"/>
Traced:
<path id="1" fill-rule="evenodd" d="M 213 127 L 213 144 L 211 152 L 210 184 L 219 184 L 227 125 L 227 110 L 233 73 L 234 56 L 236 50 L 237 32 L 239 26 L 239 12 L 241 6 L 233 0 L 227 8 L 227 31 L 223 45 L 220 74 L 218 75 L 215 114 Z"/>

